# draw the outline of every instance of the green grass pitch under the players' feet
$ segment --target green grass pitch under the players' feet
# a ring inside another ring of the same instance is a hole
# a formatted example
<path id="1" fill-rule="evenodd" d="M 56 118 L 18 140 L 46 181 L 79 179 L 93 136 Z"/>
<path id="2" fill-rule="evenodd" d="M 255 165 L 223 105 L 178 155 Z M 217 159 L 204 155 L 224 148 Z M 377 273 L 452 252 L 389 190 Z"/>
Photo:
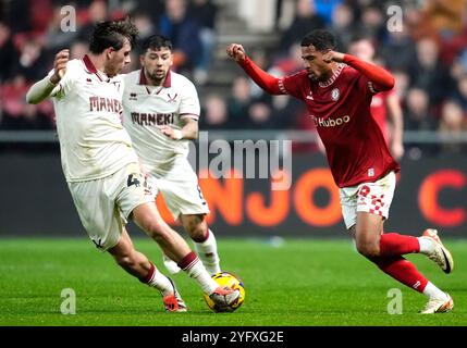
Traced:
<path id="1" fill-rule="evenodd" d="M 86 237 L 0 240 L 0 325 L 327 326 L 467 325 L 467 240 L 447 240 L 455 270 L 445 275 L 421 254 L 408 256 L 454 298 L 450 313 L 420 315 L 426 297 L 366 261 L 346 239 L 218 238 L 222 265 L 237 273 L 246 300 L 234 313 L 213 313 L 185 274 L 173 276 L 187 313 L 165 313 L 159 293 L 140 284 Z M 164 272 L 149 239 L 134 239 Z M 61 291 L 76 294 L 76 314 L 64 315 Z M 402 314 L 389 314 L 392 288 L 402 291 Z"/>

